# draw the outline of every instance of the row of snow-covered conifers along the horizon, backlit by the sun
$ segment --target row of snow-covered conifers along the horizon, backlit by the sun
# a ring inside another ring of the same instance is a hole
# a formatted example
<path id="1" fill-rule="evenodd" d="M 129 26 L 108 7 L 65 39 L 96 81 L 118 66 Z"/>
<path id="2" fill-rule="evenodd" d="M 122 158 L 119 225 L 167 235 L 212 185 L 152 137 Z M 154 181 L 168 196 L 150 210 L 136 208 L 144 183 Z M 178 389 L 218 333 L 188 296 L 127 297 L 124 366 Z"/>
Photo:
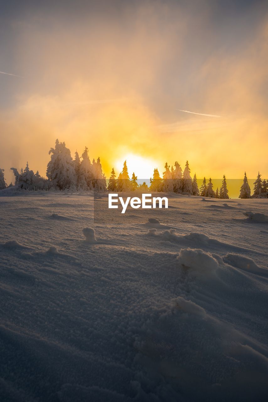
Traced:
<path id="1" fill-rule="evenodd" d="M 20 172 L 16 168 L 11 168 L 15 176 L 15 186 L 18 189 L 25 190 L 70 190 L 70 191 L 161 191 L 164 193 L 176 193 L 185 195 L 194 195 L 209 198 L 228 199 L 228 189 L 225 175 L 223 175 L 220 189 L 213 189 L 211 178 L 207 181 L 204 177 L 203 183 L 198 188 L 196 174 L 192 178 L 190 175 L 190 166 L 186 161 L 185 168 L 182 171 L 180 164 L 176 161 L 174 167 L 166 162 L 165 170 L 160 176 L 158 168 L 153 170 L 153 177 L 150 178 L 150 186 L 145 182 L 142 185 L 137 183 L 137 176 L 133 172 L 131 178 L 127 169 L 127 161 L 123 164 L 123 169 L 116 176 L 114 168 L 111 171 L 108 185 L 106 177 L 102 172 L 100 158 L 92 162 L 88 155 L 88 148 L 85 147 L 81 157 L 75 152 L 74 159 L 71 151 L 65 146 L 65 142 L 59 142 L 57 139 L 55 147 L 49 150 L 50 161 L 47 164 L 47 178 L 41 177 L 39 172 L 30 170 L 27 162 L 25 169 Z M 4 169 L 0 169 L 0 190 L 9 186 L 4 180 Z M 239 198 L 268 197 L 268 180 L 261 179 L 258 172 L 254 182 L 253 194 L 251 195 L 248 178 L 244 176 L 243 184 L 240 189 Z"/>

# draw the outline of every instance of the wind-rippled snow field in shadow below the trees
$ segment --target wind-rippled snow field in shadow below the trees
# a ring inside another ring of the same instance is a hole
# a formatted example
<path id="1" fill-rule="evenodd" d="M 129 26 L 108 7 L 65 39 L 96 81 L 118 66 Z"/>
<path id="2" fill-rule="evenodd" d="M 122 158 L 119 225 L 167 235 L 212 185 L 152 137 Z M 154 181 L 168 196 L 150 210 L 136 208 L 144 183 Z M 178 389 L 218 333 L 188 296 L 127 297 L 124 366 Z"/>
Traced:
<path id="1" fill-rule="evenodd" d="M 0 195 L 1 401 L 266 400 L 268 199 Z"/>

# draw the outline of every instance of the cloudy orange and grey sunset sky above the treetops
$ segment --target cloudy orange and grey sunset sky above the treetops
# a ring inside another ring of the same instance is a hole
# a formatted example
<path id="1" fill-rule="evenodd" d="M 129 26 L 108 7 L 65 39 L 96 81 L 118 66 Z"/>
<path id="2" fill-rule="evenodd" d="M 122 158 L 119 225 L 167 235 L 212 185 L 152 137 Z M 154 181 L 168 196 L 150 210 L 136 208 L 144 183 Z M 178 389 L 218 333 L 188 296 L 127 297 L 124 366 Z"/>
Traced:
<path id="1" fill-rule="evenodd" d="M 198 178 L 268 178 L 266 1 L 38 3 L 0 1 L 8 183 L 27 161 L 45 176 L 56 138 L 106 176 L 129 158 L 139 178 L 176 160 Z"/>

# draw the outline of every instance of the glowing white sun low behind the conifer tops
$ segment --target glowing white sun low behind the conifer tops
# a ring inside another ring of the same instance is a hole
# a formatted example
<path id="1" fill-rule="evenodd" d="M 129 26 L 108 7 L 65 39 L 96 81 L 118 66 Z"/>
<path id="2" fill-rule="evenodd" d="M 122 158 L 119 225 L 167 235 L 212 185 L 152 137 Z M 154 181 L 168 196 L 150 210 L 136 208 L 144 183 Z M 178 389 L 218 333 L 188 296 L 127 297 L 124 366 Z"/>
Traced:
<path id="1" fill-rule="evenodd" d="M 157 167 L 157 162 L 153 159 L 137 154 L 127 154 L 122 159 L 118 159 L 115 162 L 115 167 L 118 173 L 121 172 L 125 160 L 127 161 L 129 177 L 131 178 L 132 173 L 134 172 L 139 180 L 148 180 L 153 176 L 153 169 Z"/>

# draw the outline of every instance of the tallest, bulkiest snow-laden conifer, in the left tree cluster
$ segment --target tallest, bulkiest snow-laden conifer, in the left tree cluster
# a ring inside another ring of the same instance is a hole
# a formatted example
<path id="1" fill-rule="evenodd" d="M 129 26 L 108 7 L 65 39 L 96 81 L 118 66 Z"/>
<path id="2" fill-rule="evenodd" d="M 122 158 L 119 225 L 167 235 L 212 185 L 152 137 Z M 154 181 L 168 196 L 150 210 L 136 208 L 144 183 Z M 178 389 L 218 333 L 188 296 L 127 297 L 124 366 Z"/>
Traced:
<path id="1" fill-rule="evenodd" d="M 73 166 L 71 152 L 65 142 L 56 140 L 55 148 L 49 151 L 51 160 L 47 164 L 47 178 L 52 185 L 60 190 L 76 189 L 76 173 Z"/>

